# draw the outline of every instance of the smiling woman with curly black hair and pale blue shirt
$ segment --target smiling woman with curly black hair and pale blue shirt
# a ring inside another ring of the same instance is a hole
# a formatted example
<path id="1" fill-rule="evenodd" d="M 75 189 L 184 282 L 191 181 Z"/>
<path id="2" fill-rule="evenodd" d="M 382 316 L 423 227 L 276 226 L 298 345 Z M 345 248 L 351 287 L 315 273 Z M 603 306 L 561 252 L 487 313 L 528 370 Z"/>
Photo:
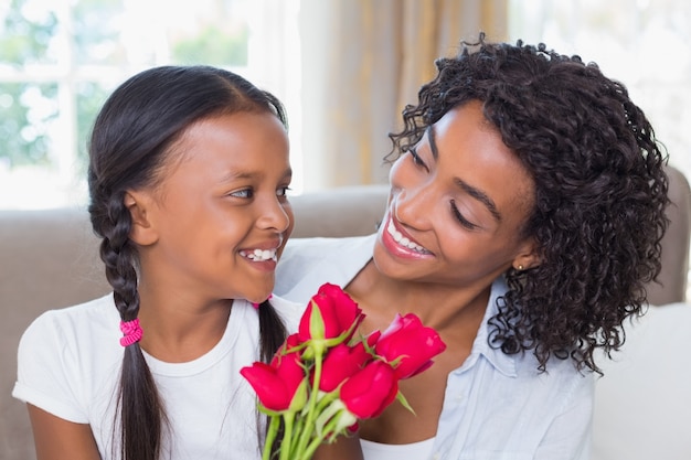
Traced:
<path id="1" fill-rule="evenodd" d="M 393 141 L 376 235 L 288 245 L 276 293 L 346 287 L 362 332 L 414 312 L 447 350 L 364 420 L 365 460 L 587 458 L 596 351 L 660 268 L 666 156 L 626 88 L 539 46 L 463 43 Z"/>

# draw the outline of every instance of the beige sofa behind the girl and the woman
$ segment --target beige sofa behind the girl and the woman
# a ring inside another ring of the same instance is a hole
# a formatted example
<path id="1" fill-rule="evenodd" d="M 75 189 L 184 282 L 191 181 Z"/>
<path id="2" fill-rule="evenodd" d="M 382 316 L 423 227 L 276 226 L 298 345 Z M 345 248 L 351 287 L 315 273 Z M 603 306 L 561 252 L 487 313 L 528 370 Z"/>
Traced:
<path id="1" fill-rule="evenodd" d="M 687 285 L 691 196 L 685 179 L 674 170 L 670 174 L 676 206 L 663 242 L 662 286 L 650 287 L 656 304 L 684 300 Z M 354 186 L 293 197 L 294 237 L 374 232 L 387 190 Z M 35 458 L 25 408 L 10 396 L 21 333 L 46 309 L 108 290 L 85 210 L 0 211 L 0 459 Z"/>

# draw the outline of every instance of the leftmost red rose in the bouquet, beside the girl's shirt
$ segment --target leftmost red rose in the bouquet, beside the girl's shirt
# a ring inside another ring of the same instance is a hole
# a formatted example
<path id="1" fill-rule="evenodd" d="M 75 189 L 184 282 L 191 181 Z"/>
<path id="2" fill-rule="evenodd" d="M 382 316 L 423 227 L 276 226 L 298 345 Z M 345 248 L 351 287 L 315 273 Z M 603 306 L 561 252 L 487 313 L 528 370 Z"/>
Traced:
<path id="1" fill-rule="evenodd" d="M 240 371 L 256 392 L 262 405 L 269 410 L 299 409 L 305 404 L 307 381 L 300 354 L 285 353 L 297 344 L 297 335 L 293 334 L 274 355 L 270 365 L 256 362 Z"/>

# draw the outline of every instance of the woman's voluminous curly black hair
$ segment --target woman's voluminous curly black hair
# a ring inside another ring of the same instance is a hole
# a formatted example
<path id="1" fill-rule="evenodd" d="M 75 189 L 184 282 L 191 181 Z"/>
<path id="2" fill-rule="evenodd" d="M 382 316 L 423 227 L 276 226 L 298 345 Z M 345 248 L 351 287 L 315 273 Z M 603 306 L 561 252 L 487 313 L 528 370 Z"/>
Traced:
<path id="1" fill-rule="evenodd" d="M 600 372 L 595 351 L 621 346 L 625 319 L 641 313 L 645 285 L 660 271 L 667 154 L 650 122 L 596 64 L 542 43 L 488 43 L 480 34 L 436 66 L 418 104 L 403 110 L 403 130 L 390 133 L 387 159 L 450 109 L 480 100 L 534 180 L 522 236 L 538 242 L 541 258 L 506 274 L 491 345 L 508 354 L 532 350 L 542 371 L 556 356 Z"/>

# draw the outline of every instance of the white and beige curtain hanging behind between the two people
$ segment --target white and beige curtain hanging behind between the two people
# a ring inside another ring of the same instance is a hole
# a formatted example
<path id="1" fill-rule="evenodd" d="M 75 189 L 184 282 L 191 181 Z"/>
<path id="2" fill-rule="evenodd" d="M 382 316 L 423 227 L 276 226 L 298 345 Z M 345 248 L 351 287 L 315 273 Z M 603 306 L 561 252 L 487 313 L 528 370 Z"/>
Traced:
<path id="1" fill-rule="evenodd" d="M 305 190 L 386 183 L 387 133 L 434 60 L 485 31 L 506 40 L 507 0 L 302 0 Z"/>

